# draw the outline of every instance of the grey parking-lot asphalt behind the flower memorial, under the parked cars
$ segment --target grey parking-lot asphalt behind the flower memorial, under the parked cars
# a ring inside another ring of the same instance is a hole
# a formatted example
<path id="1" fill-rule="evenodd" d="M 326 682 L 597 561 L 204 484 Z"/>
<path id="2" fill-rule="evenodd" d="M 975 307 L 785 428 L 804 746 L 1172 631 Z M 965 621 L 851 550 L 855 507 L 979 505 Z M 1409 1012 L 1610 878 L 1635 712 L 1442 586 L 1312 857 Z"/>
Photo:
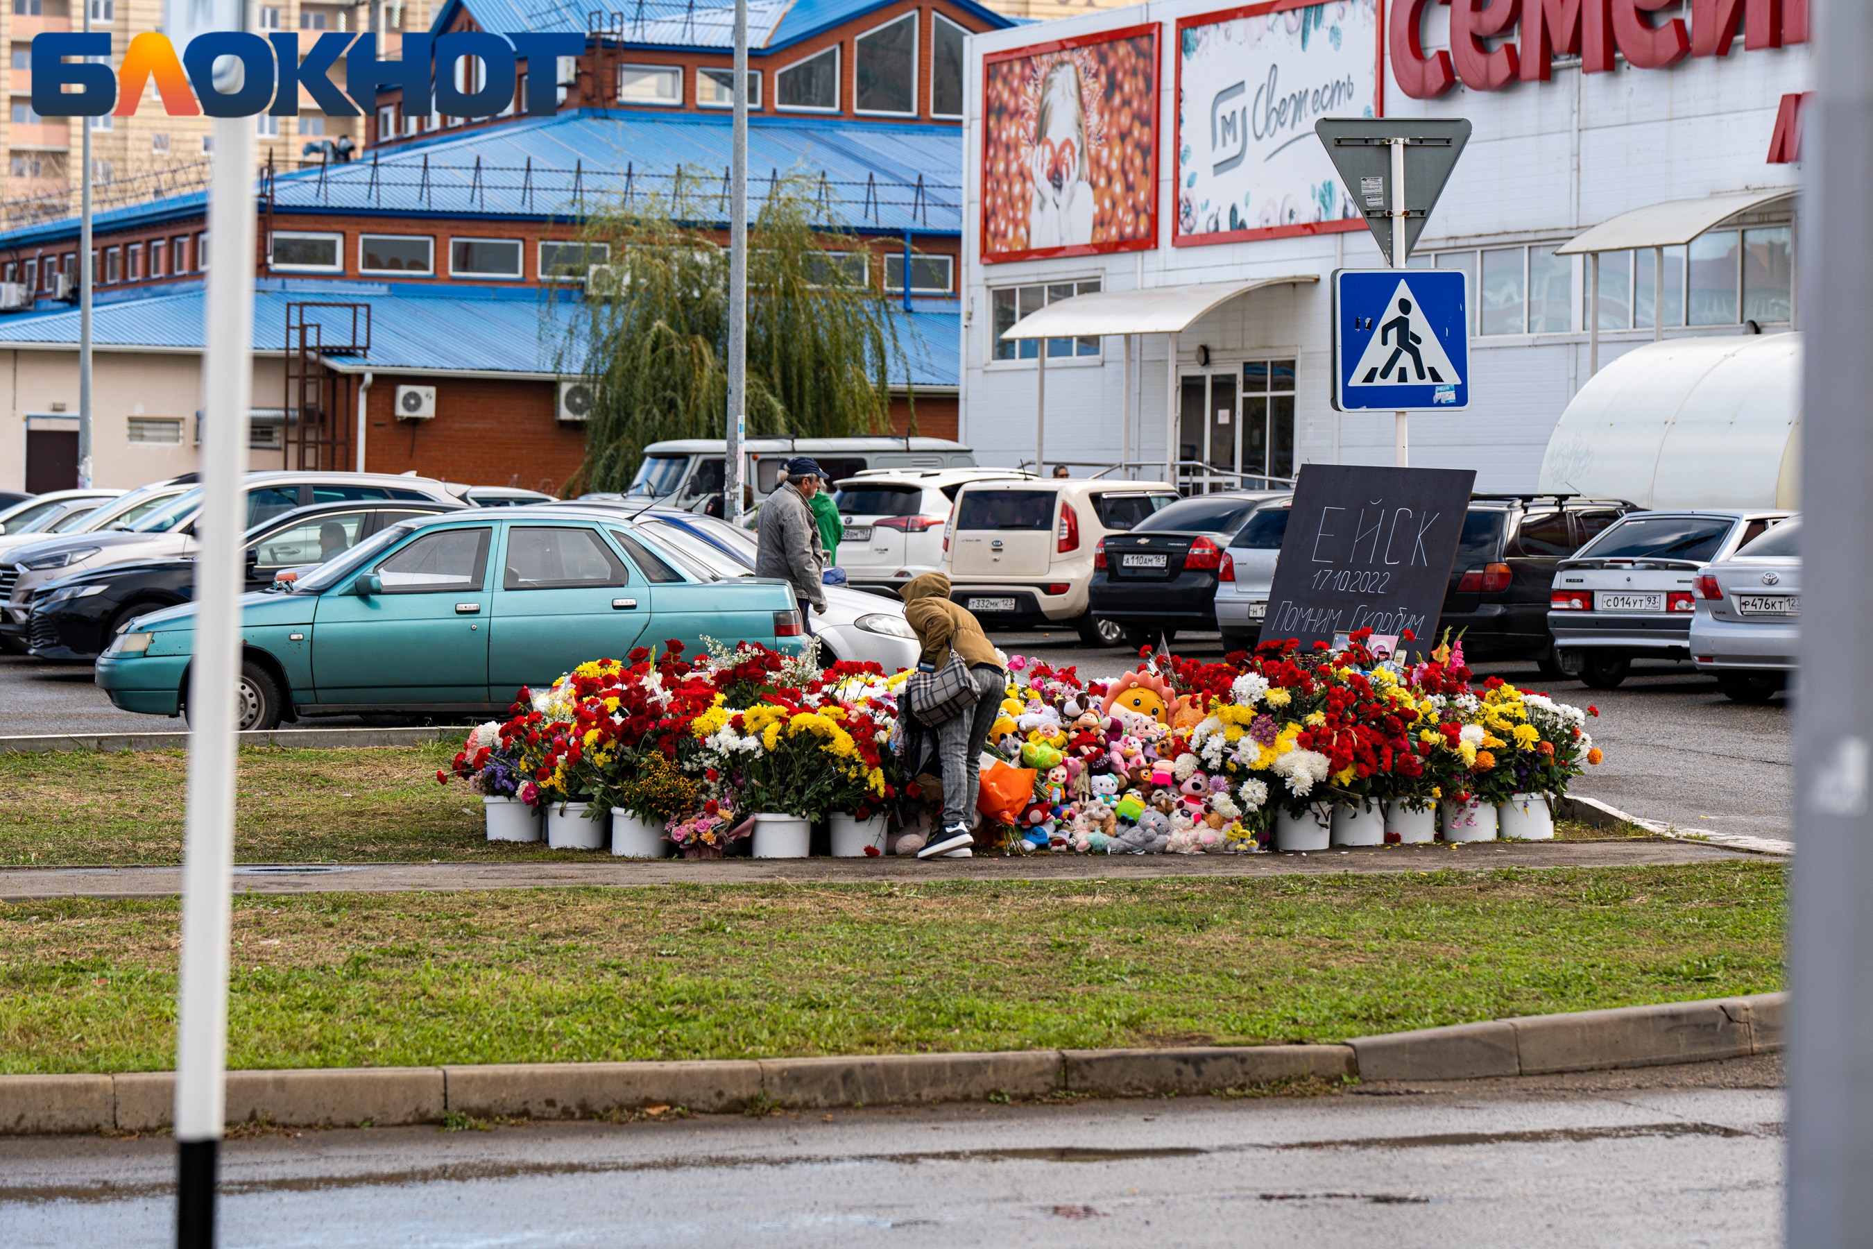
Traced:
<path id="1" fill-rule="evenodd" d="M 1068 631 L 996 633 L 1010 654 L 1028 654 L 1081 676 L 1111 678 L 1137 657 L 1124 648 L 1088 648 Z M 1176 639 L 1180 654 L 1221 657 L 1210 633 Z M 1581 781 L 1579 792 L 1684 830 L 1753 837 L 1792 837 L 1794 783 L 1789 698 L 1762 706 L 1731 702 L 1716 682 L 1684 665 L 1637 667 L 1624 685 L 1586 689 L 1579 682 L 1545 682 L 1526 665 L 1483 665 L 1504 680 L 1547 689 L 1566 702 L 1594 704 L 1594 740 L 1607 760 Z M 354 719 L 318 721 L 337 727 Z M 86 665 L 47 665 L 0 655 L 0 732 L 148 732 L 182 728 L 180 719 L 118 712 L 92 683 Z"/>

